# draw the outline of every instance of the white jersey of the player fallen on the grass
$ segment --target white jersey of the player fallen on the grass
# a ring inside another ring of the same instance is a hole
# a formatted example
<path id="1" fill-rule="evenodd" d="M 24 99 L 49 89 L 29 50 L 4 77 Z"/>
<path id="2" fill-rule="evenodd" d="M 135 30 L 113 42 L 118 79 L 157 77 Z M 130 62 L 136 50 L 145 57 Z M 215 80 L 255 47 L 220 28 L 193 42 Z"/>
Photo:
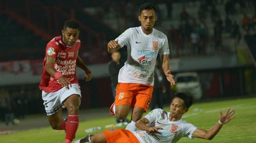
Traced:
<path id="1" fill-rule="evenodd" d="M 170 113 L 162 109 L 154 109 L 144 118 L 149 120 L 148 126 L 162 127 L 158 132 L 162 134 L 153 134 L 144 130 L 133 131 L 140 143 L 176 143 L 182 137 L 193 138 L 192 134 L 197 129 L 191 123 L 182 119 L 178 121 L 169 120 Z"/>

